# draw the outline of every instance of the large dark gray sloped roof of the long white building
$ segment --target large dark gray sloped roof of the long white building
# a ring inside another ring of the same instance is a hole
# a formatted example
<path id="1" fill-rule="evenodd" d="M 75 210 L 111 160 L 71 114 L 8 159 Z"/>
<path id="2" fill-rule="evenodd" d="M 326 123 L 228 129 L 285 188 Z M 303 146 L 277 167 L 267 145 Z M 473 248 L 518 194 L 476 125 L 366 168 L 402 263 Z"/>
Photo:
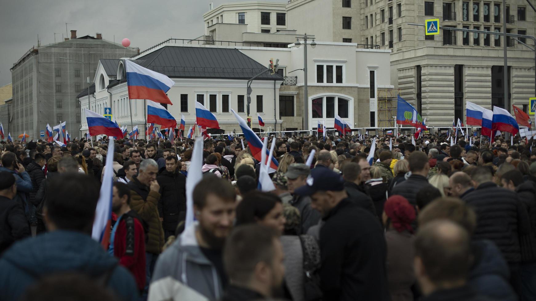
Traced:
<path id="1" fill-rule="evenodd" d="M 137 63 L 170 78 L 250 79 L 266 66 L 237 49 L 165 46 L 137 59 Z M 266 65 L 268 61 L 266 61 Z M 281 80 L 266 72 L 259 80 Z"/>

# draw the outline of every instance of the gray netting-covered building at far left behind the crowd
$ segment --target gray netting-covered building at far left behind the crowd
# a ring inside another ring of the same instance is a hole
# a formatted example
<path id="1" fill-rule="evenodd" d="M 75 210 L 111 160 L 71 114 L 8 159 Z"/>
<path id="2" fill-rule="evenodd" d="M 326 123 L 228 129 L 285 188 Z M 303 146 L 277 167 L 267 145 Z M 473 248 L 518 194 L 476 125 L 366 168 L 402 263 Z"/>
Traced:
<path id="1" fill-rule="evenodd" d="M 66 121 L 66 129 L 74 135 L 80 127 L 80 104 L 76 96 L 87 88 L 85 80 L 94 80 L 101 58 L 121 58 L 135 55 L 138 49 L 102 40 L 97 34 L 32 48 L 11 68 L 13 79 L 13 118 L 11 134 L 26 131 L 30 139 L 40 138 L 40 130 Z M 63 59 L 68 58 L 68 59 Z M 79 60 L 79 61 L 77 61 Z M 80 62 L 81 61 L 81 62 Z M 79 136 L 78 136 L 79 137 Z"/>

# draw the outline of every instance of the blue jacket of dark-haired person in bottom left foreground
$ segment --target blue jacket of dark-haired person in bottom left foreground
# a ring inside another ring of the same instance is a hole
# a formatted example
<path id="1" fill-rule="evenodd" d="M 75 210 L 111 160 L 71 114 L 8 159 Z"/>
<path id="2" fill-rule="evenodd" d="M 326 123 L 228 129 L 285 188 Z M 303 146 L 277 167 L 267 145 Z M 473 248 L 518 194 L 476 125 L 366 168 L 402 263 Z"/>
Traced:
<path id="1" fill-rule="evenodd" d="M 91 236 L 56 230 L 14 244 L 0 258 L 0 301 L 18 300 L 29 285 L 56 272 L 76 271 L 95 279 L 111 271 L 108 288 L 123 300 L 138 298 L 132 275 Z"/>

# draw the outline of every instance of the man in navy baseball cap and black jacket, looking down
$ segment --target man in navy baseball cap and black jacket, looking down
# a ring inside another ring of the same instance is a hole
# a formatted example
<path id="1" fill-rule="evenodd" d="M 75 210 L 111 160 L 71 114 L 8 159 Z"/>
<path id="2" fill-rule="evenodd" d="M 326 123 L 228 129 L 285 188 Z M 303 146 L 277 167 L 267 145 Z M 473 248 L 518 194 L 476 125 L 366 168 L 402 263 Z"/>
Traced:
<path id="1" fill-rule="evenodd" d="M 389 300 L 382 226 L 348 198 L 340 175 L 314 169 L 295 193 L 311 196 L 324 220 L 319 274 L 326 300 Z"/>

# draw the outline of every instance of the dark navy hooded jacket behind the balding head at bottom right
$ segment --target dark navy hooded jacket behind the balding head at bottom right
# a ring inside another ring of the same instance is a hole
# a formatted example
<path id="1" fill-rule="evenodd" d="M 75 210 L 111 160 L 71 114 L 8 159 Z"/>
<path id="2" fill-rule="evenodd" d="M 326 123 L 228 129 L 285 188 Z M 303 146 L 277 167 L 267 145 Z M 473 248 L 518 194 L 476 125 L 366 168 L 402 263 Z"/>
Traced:
<path id="1" fill-rule="evenodd" d="M 510 272 L 497 246 L 488 240 L 472 243 L 474 264 L 468 285 L 482 295 L 502 301 L 516 301 L 517 297 L 508 280 Z"/>

